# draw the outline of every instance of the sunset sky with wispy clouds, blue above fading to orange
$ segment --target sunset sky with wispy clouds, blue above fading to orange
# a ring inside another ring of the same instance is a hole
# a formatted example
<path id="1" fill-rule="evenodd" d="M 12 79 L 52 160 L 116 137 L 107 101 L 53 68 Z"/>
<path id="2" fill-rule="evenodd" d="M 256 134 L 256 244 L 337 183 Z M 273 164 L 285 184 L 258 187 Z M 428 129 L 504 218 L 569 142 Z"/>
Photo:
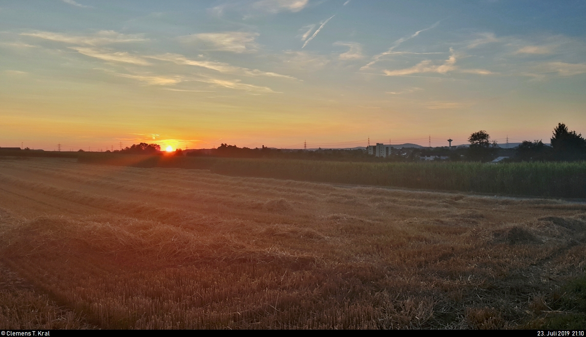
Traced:
<path id="1" fill-rule="evenodd" d="M 0 147 L 586 134 L 586 1 L 0 0 Z"/>

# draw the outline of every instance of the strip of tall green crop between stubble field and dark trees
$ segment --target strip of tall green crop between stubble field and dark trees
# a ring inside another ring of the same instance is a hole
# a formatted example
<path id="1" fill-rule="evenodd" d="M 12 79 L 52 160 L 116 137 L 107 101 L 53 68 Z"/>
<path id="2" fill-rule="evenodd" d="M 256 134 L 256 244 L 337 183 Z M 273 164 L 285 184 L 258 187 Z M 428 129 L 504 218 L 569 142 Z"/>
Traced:
<path id="1" fill-rule="evenodd" d="M 80 156 L 79 162 L 135 167 L 209 169 L 233 176 L 400 188 L 586 198 L 586 163 L 481 164 L 326 162 L 289 159 Z"/>

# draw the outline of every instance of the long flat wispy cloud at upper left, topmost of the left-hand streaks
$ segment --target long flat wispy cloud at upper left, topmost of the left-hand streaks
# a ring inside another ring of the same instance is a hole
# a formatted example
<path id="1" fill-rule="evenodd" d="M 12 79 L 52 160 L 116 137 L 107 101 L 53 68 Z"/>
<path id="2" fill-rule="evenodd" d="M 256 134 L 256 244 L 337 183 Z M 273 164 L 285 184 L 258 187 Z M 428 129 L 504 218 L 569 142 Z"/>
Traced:
<path id="1" fill-rule="evenodd" d="M 94 35 L 65 35 L 53 32 L 35 31 L 29 33 L 21 33 L 23 36 L 32 36 L 34 38 L 71 43 L 74 45 L 90 45 L 99 46 L 110 43 L 122 42 L 141 42 L 146 41 L 142 34 L 128 35 L 115 32 L 114 30 L 100 30 Z"/>

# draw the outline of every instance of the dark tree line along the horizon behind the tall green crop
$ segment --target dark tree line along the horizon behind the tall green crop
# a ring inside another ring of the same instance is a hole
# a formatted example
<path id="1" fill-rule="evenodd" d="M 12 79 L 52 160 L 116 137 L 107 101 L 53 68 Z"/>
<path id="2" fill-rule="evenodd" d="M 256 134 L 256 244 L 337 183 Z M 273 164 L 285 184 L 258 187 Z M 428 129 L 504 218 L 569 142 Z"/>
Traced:
<path id="1" fill-rule="evenodd" d="M 447 156 L 449 161 L 480 161 L 489 162 L 497 156 L 509 157 L 506 161 L 586 161 L 586 140 L 576 131 L 568 130 L 568 127 L 559 123 L 553 130 L 551 145 L 546 145 L 541 140 L 523 141 L 517 148 L 500 148 L 496 141 L 490 141 L 488 132 L 481 130 L 473 132 L 468 138 L 468 148 L 391 148 L 386 158 L 369 155 L 365 149 L 318 149 L 315 151 L 275 149 L 275 148 L 239 148 L 236 145 L 222 144 L 214 149 L 197 149 L 184 153 L 180 149 L 172 152 L 172 155 L 188 156 L 213 156 L 225 158 L 288 158 L 309 159 L 326 161 L 418 161 L 420 156 L 438 155 Z M 107 151 L 109 152 L 109 151 Z M 133 144 L 120 151 L 122 154 L 162 154 L 158 144 Z"/>

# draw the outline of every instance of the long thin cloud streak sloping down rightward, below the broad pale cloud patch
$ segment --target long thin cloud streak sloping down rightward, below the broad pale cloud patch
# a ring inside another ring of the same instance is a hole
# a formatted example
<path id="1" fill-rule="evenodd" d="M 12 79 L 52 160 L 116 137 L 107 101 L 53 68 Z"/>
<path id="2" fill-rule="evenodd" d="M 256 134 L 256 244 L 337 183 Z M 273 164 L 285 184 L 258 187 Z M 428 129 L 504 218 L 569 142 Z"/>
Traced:
<path id="1" fill-rule="evenodd" d="M 216 72 L 226 73 L 226 74 L 237 74 L 237 75 L 244 75 L 244 76 L 268 76 L 268 77 L 282 77 L 285 79 L 292 79 L 297 80 L 295 77 L 282 75 L 272 72 L 262 72 L 258 69 L 248 69 L 243 67 L 236 67 L 231 66 L 228 63 L 223 62 L 214 62 L 214 61 L 198 61 L 198 60 L 190 60 L 187 57 L 180 55 L 180 54 L 171 54 L 166 53 L 163 55 L 155 55 L 155 56 L 145 56 L 150 59 L 173 62 L 175 64 L 185 64 L 187 66 L 196 66 L 202 67 L 206 69 L 216 70 Z"/>

